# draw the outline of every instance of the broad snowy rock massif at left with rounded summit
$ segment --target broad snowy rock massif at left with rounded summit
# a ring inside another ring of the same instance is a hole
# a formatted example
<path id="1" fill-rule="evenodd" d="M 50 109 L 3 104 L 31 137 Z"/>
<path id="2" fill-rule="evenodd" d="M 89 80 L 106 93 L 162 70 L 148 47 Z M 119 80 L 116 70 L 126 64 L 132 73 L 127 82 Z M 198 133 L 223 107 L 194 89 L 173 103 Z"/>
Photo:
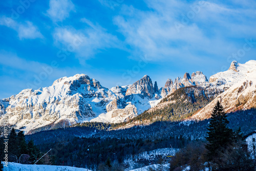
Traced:
<path id="1" fill-rule="evenodd" d="M 61 120 L 72 124 L 96 116 L 86 98 L 109 96 L 111 93 L 97 80 L 81 74 L 57 79 L 48 88 L 23 90 L 10 97 L 5 113 L 10 124 L 28 130 Z"/>

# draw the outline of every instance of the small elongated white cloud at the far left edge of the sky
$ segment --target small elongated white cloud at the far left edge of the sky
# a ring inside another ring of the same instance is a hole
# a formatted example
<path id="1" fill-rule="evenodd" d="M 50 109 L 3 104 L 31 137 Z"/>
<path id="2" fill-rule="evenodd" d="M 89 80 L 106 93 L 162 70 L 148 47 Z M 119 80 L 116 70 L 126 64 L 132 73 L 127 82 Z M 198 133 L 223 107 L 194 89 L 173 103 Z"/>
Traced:
<path id="1" fill-rule="evenodd" d="M 0 25 L 9 27 L 17 31 L 19 39 L 23 39 L 23 38 L 35 39 L 35 38 L 44 37 L 39 32 L 38 28 L 29 21 L 26 21 L 24 24 L 20 24 L 9 17 L 2 16 L 0 18 Z"/>

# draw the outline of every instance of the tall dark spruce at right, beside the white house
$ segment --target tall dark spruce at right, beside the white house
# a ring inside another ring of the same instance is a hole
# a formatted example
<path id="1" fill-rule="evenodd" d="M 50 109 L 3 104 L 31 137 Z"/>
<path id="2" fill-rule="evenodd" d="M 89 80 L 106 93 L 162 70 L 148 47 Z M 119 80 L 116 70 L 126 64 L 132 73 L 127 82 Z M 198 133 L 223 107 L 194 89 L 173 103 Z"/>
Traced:
<path id="1" fill-rule="evenodd" d="M 224 112 L 223 106 L 218 101 L 211 113 L 211 118 L 208 125 L 206 140 L 207 159 L 218 167 L 218 160 L 225 149 L 234 140 L 234 133 L 228 128 L 227 115 Z"/>

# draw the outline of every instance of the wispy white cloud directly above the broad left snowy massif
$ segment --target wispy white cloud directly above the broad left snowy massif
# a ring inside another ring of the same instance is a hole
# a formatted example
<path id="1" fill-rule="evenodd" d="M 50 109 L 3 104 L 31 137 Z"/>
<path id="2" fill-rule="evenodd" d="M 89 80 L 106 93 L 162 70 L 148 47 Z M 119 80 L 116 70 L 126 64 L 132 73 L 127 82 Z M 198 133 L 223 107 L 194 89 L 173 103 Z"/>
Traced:
<path id="1" fill-rule="evenodd" d="M 89 28 L 57 28 L 53 34 L 55 44 L 64 46 L 68 53 L 76 53 L 81 63 L 107 48 L 120 47 L 118 38 L 99 25 L 94 25 L 86 18 L 81 19 L 81 22 L 86 23 Z"/>

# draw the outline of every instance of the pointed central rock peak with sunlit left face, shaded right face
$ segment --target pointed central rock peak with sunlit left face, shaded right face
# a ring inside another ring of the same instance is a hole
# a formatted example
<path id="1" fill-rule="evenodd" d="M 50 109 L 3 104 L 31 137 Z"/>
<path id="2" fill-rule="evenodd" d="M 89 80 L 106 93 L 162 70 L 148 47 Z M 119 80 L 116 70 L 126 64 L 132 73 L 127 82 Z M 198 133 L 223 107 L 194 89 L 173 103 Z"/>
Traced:
<path id="1" fill-rule="evenodd" d="M 155 89 L 153 87 L 151 78 L 147 75 L 144 75 L 143 78 L 133 83 L 132 86 L 128 88 L 125 93 L 126 96 L 131 94 L 140 94 L 142 98 L 153 98 L 155 94 Z"/>

